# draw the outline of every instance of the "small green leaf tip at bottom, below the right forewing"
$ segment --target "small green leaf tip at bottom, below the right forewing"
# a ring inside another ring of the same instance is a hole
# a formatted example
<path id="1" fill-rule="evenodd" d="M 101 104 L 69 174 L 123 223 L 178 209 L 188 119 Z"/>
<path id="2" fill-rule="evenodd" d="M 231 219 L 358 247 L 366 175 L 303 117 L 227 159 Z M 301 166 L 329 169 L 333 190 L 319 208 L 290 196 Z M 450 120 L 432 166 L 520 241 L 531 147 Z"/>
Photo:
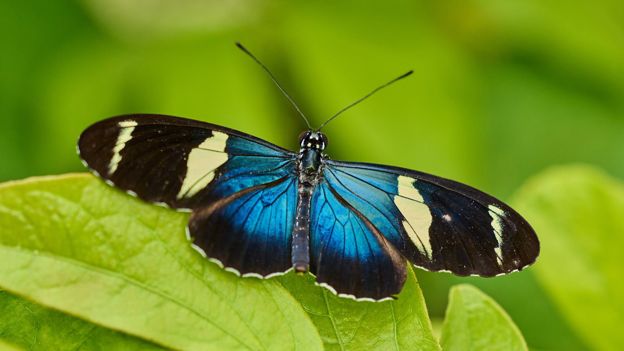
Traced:
<path id="1" fill-rule="evenodd" d="M 440 344 L 445 351 L 528 350 L 507 312 L 469 284 L 451 288 Z"/>

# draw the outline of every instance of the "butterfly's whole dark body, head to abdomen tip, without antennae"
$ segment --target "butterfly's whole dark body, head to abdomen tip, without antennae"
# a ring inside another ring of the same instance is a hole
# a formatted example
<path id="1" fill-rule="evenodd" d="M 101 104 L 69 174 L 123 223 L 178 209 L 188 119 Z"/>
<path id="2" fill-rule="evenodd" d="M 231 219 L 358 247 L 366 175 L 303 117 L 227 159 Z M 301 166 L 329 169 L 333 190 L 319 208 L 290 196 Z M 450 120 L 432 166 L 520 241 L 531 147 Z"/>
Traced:
<path id="1" fill-rule="evenodd" d="M 299 186 L 291 259 L 295 272 L 305 273 L 310 264 L 310 202 L 323 174 L 321 159 L 327 137 L 320 132 L 307 131 L 301 133 L 299 141 L 301 149 L 295 171 L 298 173 Z"/>

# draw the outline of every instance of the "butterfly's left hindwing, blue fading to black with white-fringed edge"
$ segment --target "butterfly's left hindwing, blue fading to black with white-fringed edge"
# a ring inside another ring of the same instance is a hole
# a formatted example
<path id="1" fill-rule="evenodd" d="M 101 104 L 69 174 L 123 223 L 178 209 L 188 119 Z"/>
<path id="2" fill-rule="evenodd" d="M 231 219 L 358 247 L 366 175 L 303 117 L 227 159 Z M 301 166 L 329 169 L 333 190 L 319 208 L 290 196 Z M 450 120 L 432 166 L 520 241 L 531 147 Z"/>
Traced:
<path id="1" fill-rule="evenodd" d="M 292 267 L 296 202 L 297 179 L 286 176 L 193 211 L 189 234 L 208 257 L 237 274 L 285 272 Z"/>

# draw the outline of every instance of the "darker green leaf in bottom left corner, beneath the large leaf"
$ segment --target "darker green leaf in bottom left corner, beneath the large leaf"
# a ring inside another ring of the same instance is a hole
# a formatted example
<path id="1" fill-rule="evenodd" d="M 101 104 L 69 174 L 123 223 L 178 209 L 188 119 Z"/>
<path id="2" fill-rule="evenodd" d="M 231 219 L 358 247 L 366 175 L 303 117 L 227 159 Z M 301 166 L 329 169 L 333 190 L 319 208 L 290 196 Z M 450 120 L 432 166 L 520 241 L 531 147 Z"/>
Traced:
<path id="1" fill-rule="evenodd" d="M 167 350 L 145 340 L 46 309 L 6 291 L 0 292 L 0 330 L 1 340 L 31 351 Z"/>

